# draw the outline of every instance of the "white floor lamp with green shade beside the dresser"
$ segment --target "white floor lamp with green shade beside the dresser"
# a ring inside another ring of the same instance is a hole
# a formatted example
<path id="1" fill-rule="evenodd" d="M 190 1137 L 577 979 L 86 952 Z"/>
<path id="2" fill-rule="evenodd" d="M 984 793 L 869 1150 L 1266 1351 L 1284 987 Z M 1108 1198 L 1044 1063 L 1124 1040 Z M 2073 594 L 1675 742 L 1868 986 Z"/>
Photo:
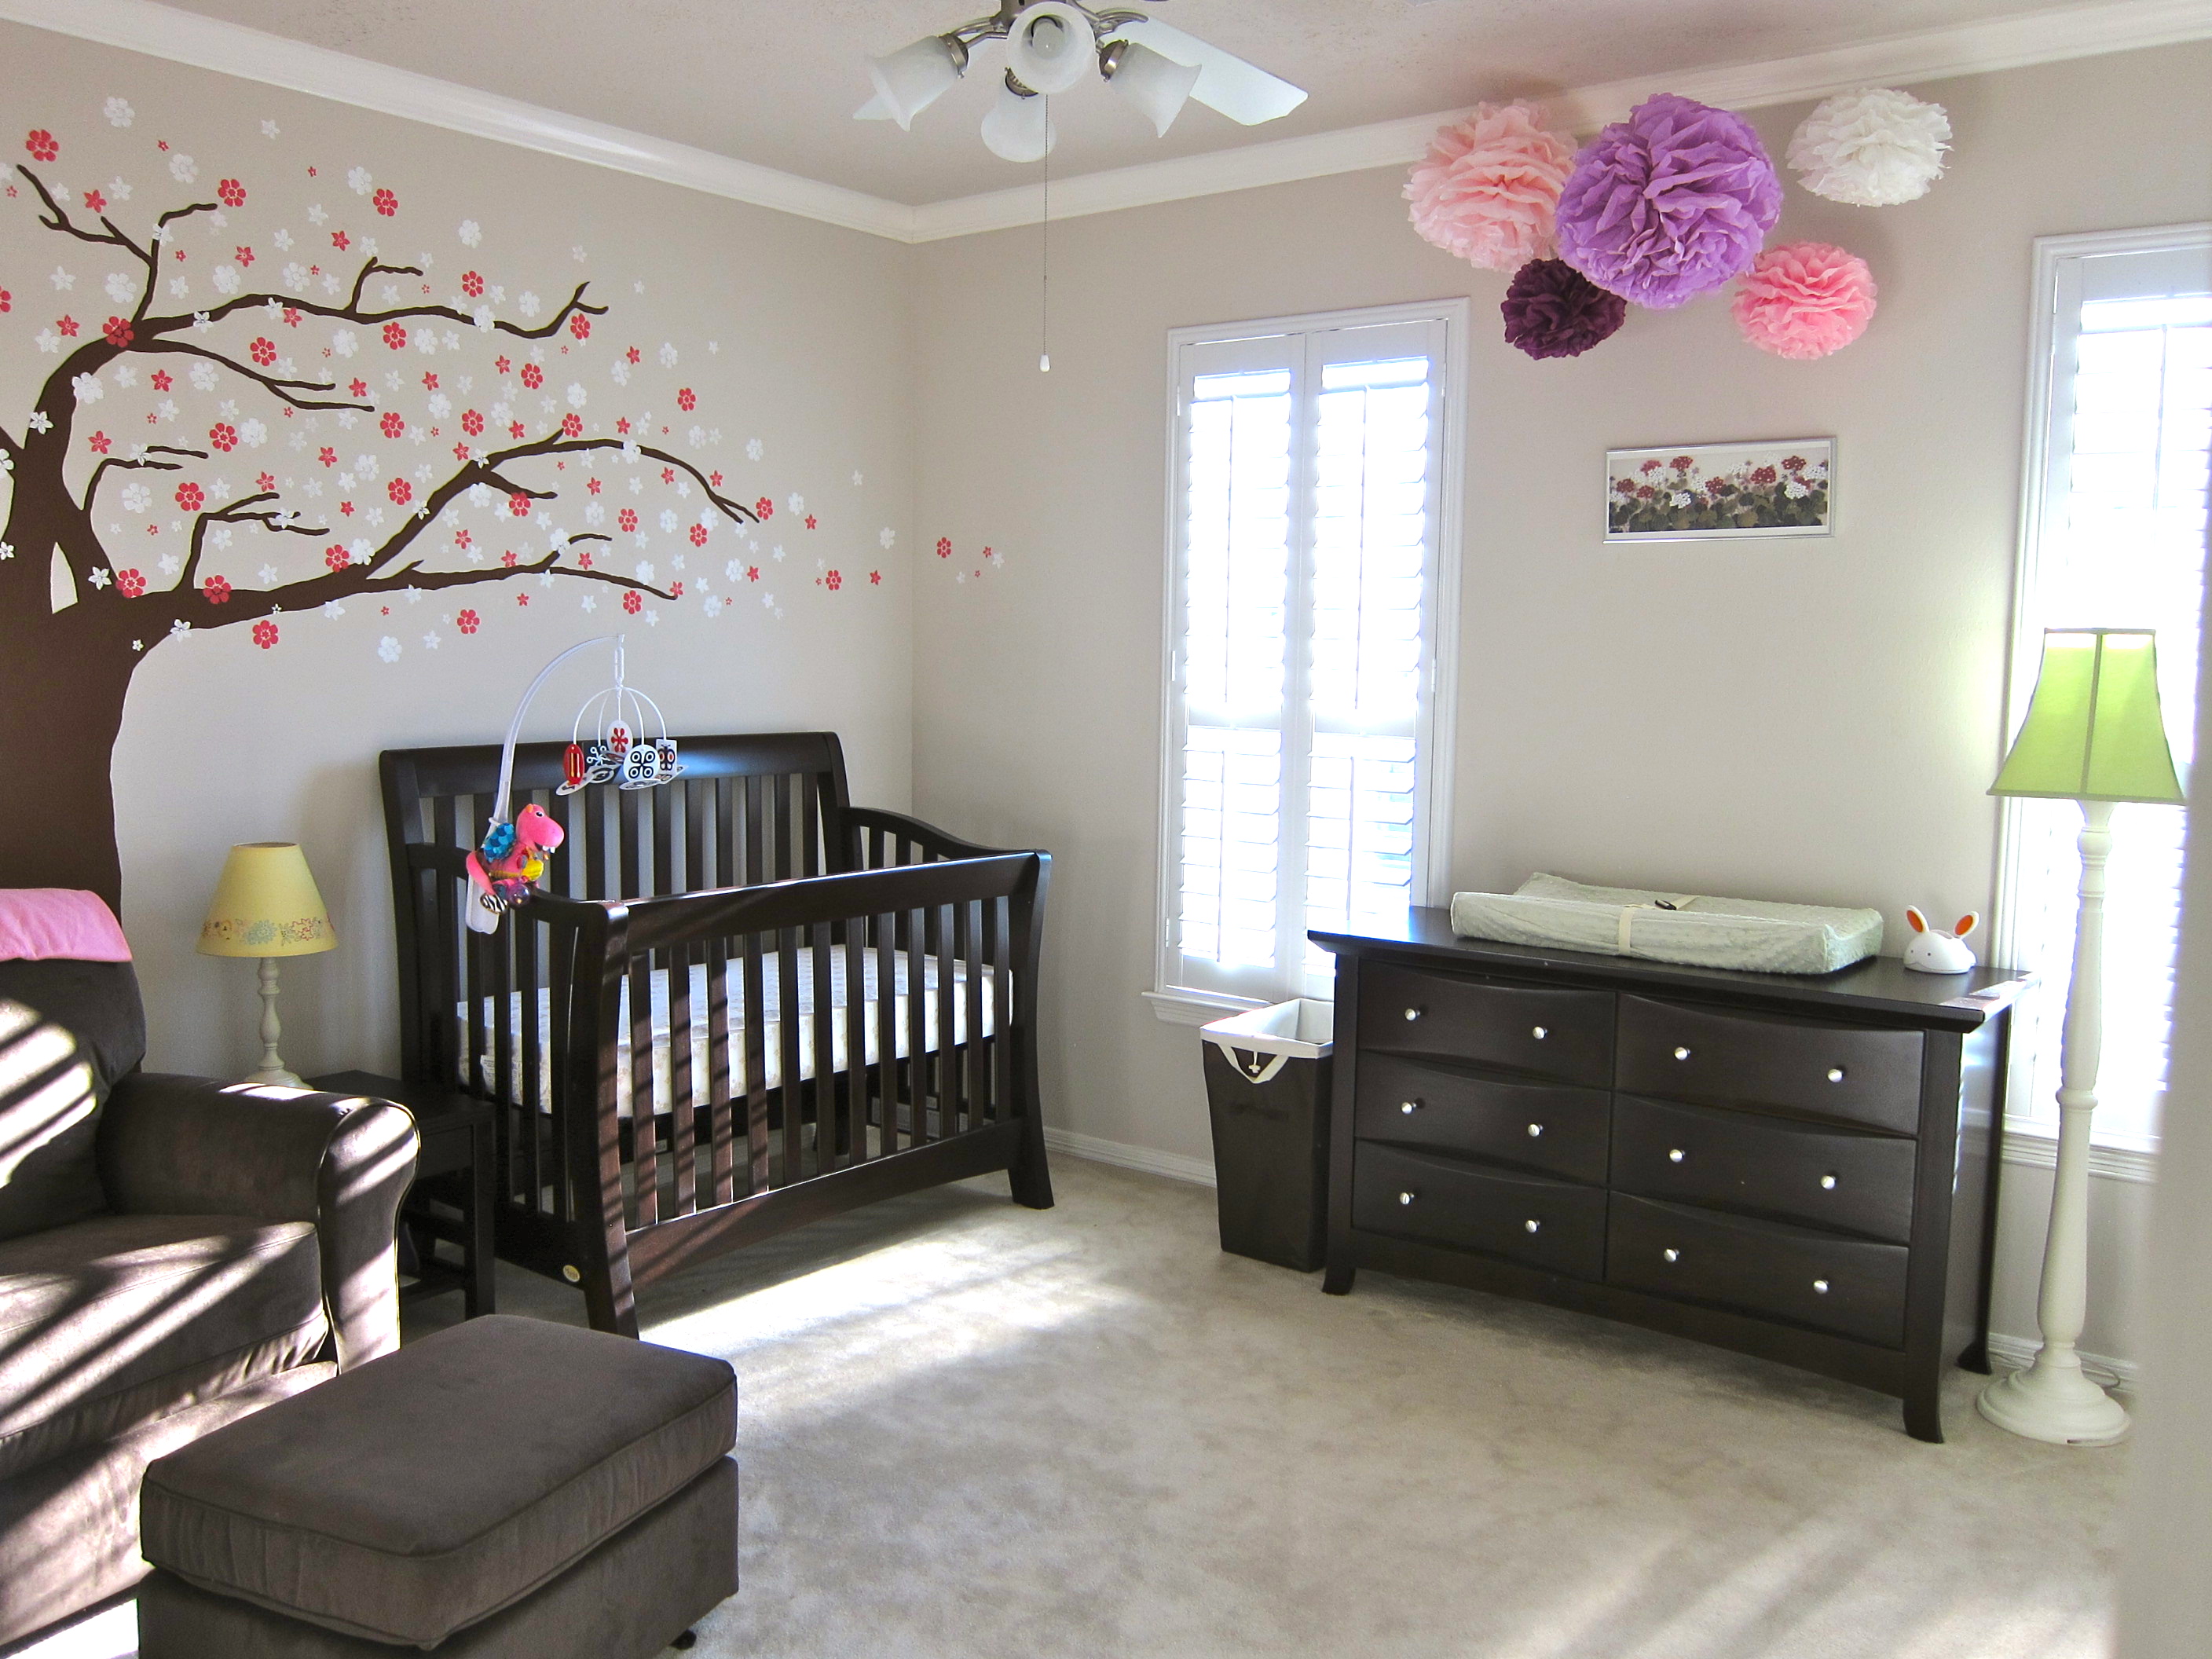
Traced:
<path id="1" fill-rule="evenodd" d="M 2081 898 L 2059 1040 L 2059 1150 L 2035 1323 L 2044 1345 L 2026 1371 L 1982 1389 L 2000 1429 L 2062 1447 L 2108 1447 L 2128 1411 L 2081 1374 L 2075 1343 L 2088 1307 L 2088 1126 L 2104 1044 L 2104 865 L 2112 805 L 2181 805 L 2159 714 L 2159 646 L 2148 628 L 2046 628 L 2028 719 L 1991 794 L 2081 803 Z"/>

